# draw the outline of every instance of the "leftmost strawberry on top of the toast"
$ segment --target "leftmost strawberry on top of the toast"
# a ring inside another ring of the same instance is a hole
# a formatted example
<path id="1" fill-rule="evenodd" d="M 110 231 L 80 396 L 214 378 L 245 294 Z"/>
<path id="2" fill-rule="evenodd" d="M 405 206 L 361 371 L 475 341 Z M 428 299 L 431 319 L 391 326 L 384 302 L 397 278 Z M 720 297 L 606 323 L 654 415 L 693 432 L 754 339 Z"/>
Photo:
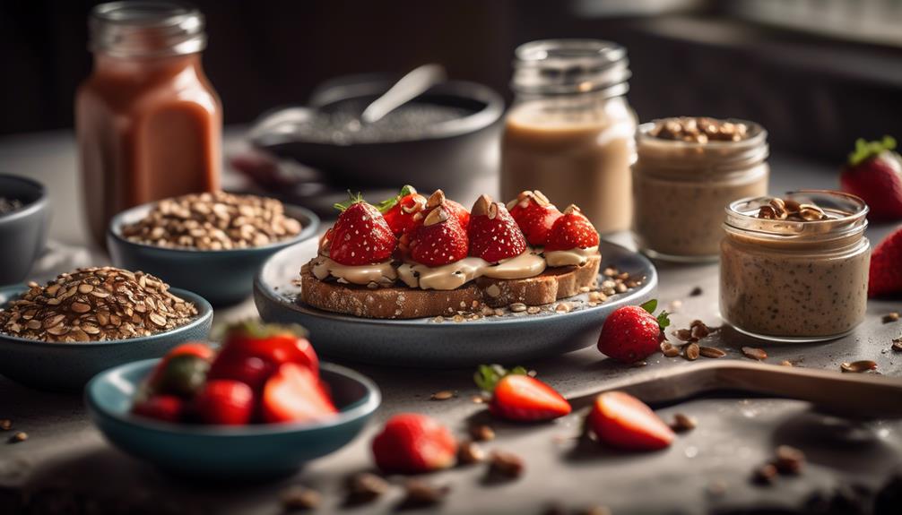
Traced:
<path id="1" fill-rule="evenodd" d="M 329 235 L 329 258 L 342 265 L 373 265 L 391 258 L 398 239 L 382 213 L 360 194 L 350 203 L 336 203 L 342 210 Z"/>

